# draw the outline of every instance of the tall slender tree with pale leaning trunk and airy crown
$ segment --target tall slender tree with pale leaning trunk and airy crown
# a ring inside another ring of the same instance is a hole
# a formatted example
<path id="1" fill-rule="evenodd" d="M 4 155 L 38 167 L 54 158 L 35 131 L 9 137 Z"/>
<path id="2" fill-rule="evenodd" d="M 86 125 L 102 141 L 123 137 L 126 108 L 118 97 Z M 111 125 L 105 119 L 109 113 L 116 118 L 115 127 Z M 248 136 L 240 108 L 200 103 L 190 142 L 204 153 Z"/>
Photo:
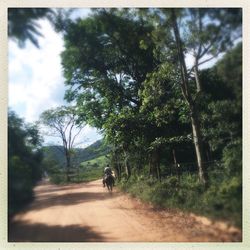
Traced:
<path id="1" fill-rule="evenodd" d="M 159 10 L 157 10 L 159 11 Z M 193 132 L 193 142 L 197 156 L 199 179 L 206 184 L 207 177 L 203 155 L 203 139 L 199 118 L 199 98 L 202 86 L 199 78 L 199 66 L 218 56 L 233 45 L 233 41 L 241 35 L 240 9 L 161 9 L 159 20 L 163 20 L 159 29 L 173 29 L 172 42 L 176 46 L 178 68 L 181 77 L 180 88 L 182 96 L 189 107 Z M 166 31 L 169 34 L 169 31 Z M 165 39 L 164 37 L 162 37 Z M 168 37 L 169 39 L 169 37 Z M 166 40 L 166 39 L 165 39 Z M 161 40 L 161 44 L 162 44 Z M 166 41 L 166 47 L 171 43 Z M 194 65 L 188 70 L 186 55 L 194 58 Z M 210 56 L 210 57 L 209 57 Z M 209 58 L 207 58 L 209 57 Z M 196 91 L 193 91 L 193 84 Z"/>

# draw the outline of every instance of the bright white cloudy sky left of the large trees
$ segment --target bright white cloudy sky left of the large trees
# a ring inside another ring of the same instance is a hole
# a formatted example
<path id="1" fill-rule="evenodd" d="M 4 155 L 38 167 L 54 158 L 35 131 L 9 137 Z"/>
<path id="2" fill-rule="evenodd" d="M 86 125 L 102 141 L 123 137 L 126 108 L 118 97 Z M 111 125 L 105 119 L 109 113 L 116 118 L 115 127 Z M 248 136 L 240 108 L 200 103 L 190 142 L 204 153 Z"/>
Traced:
<path id="1" fill-rule="evenodd" d="M 74 17 L 85 15 L 78 11 Z M 67 105 L 64 101 L 64 78 L 60 53 L 63 51 L 62 35 L 56 33 L 49 21 L 38 21 L 43 37 L 38 37 L 40 49 L 27 41 L 19 48 L 12 40 L 8 42 L 8 105 L 27 123 L 34 123 L 40 114 L 50 108 Z M 78 147 L 86 147 L 102 136 L 94 128 L 86 126 L 78 137 Z M 45 144 L 58 143 L 52 137 L 44 138 Z"/>

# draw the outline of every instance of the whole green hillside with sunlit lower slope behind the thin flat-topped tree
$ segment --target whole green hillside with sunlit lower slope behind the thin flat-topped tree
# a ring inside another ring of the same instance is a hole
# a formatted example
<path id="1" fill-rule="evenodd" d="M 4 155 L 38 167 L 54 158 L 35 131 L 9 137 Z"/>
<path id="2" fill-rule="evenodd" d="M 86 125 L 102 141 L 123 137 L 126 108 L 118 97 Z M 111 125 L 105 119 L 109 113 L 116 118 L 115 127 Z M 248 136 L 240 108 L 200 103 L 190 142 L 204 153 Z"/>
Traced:
<path id="1" fill-rule="evenodd" d="M 72 156 L 71 182 L 84 182 L 102 178 L 103 169 L 108 164 L 109 147 L 99 140 L 85 149 L 76 148 Z M 65 156 L 61 146 L 43 148 L 44 170 L 54 183 L 66 182 Z"/>

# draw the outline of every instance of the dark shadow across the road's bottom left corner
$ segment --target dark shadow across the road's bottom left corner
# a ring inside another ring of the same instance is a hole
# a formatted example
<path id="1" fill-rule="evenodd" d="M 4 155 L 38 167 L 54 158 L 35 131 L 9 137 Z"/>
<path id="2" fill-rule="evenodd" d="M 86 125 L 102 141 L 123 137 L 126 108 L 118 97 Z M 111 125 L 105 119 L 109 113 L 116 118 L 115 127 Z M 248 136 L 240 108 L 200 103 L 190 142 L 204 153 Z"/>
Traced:
<path id="1" fill-rule="evenodd" d="M 69 225 L 49 226 L 26 221 L 13 222 L 9 226 L 9 242 L 101 242 L 104 237 L 91 227 Z"/>

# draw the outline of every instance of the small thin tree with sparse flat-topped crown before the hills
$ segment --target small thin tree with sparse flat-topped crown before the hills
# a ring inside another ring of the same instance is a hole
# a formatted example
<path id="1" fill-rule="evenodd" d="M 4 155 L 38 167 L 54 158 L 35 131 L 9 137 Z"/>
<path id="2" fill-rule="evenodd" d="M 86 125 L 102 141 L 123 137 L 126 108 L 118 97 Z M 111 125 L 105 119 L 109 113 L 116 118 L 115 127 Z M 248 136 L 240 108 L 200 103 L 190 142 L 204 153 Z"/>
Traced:
<path id="1" fill-rule="evenodd" d="M 70 181 L 69 174 L 74 143 L 85 124 L 82 122 L 78 123 L 75 107 L 66 106 L 44 111 L 40 116 L 40 122 L 49 128 L 48 135 L 61 139 L 66 160 L 67 181 Z"/>

